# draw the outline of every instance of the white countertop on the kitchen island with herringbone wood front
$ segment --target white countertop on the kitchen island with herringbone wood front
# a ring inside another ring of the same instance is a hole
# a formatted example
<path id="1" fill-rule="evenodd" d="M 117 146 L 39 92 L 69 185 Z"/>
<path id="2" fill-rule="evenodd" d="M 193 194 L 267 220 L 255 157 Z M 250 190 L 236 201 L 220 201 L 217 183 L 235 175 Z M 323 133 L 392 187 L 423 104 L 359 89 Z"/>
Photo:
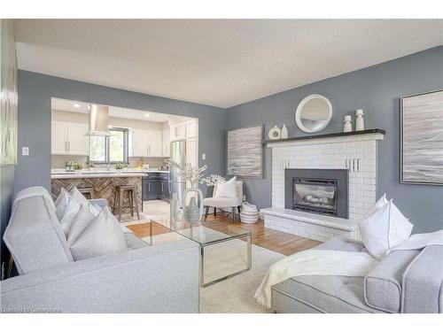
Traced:
<path id="1" fill-rule="evenodd" d="M 83 170 L 82 173 L 66 172 L 64 169 L 53 169 L 51 170 L 51 179 L 74 179 L 74 178 L 106 178 L 106 177 L 136 177 L 145 176 L 148 173 L 169 173 L 169 171 L 159 171 L 159 170 L 137 170 L 128 169 L 122 172 L 116 172 L 115 170 Z"/>

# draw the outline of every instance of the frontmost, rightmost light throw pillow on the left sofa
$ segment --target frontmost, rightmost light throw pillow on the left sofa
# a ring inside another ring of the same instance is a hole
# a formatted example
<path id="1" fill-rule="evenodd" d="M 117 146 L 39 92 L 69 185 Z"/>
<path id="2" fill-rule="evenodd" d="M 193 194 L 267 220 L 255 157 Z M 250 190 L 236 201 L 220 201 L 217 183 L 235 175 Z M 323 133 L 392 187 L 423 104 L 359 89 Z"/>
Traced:
<path id="1" fill-rule="evenodd" d="M 90 259 L 127 251 L 120 224 L 107 207 L 92 220 L 71 245 L 74 260 Z"/>

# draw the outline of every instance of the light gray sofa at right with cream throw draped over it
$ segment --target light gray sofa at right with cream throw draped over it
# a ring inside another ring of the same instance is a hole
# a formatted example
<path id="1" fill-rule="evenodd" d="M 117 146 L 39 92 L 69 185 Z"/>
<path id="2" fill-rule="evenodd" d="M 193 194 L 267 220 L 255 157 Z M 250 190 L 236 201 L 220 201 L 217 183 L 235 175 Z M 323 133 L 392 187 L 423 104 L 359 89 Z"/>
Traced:
<path id="1" fill-rule="evenodd" d="M 366 251 L 344 237 L 315 249 Z M 392 251 L 364 278 L 298 276 L 271 292 L 276 313 L 442 313 L 443 247 Z"/>

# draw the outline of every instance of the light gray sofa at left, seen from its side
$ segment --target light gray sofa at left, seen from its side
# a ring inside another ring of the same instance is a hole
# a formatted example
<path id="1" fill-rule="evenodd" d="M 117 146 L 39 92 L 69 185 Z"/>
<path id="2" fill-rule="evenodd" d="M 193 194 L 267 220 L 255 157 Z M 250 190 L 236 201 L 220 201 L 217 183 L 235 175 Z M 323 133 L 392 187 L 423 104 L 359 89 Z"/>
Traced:
<path id="1" fill-rule="evenodd" d="M 198 313 L 196 243 L 149 246 L 127 231 L 128 251 L 74 261 L 49 193 L 21 196 L 4 232 L 19 275 L 1 282 L 2 312 Z"/>

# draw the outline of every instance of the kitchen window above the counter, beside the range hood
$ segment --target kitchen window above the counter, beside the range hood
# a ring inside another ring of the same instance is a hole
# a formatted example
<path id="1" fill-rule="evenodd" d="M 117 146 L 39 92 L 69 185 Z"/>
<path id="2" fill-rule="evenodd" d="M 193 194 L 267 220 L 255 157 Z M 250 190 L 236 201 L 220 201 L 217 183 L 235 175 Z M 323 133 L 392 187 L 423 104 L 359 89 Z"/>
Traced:
<path id="1" fill-rule="evenodd" d="M 89 161 L 93 163 L 128 163 L 128 129 L 109 129 L 109 136 L 90 136 Z"/>

